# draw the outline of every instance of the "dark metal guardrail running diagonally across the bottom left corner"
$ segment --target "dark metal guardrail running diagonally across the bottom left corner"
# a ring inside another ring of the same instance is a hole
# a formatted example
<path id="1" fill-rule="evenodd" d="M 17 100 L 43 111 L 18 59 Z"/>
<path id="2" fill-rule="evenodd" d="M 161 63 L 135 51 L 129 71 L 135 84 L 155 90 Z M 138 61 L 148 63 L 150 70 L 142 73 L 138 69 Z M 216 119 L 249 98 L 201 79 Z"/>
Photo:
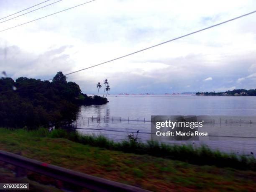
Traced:
<path id="1" fill-rule="evenodd" d="M 98 192 L 149 192 L 148 190 L 122 184 L 92 175 L 75 172 L 59 166 L 46 164 L 41 161 L 29 159 L 20 155 L 0 150 L 0 161 L 12 164 L 19 169 L 27 169 L 32 172 L 46 175 L 54 179 L 68 182 L 80 187 Z M 18 169 L 18 170 L 19 170 Z M 18 173 L 16 173 L 18 174 Z"/>

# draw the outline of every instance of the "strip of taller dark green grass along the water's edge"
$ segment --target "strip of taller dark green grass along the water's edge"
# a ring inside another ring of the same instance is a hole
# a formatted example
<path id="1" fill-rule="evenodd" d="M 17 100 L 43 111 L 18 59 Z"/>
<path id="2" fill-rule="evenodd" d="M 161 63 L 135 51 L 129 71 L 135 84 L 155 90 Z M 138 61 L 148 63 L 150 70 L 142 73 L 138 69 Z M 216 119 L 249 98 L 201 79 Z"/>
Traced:
<path id="1" fill-rule="evenodd" d="M 190 164 L 197 165 L 215 165 L 218 167 L 230 167 L 235 169 L 249 169 L 256 171 L 256 159 L 253 156 L 237 156 L 236 154 L 225 154 L 218 150 L 211 150 L 207 146 L 193 147 L 192 145 L 169 145 L 158 143 L 156 141 L 148 141 L 141 143 L 133 139 L 114 142 L 104 136 L 82 135 L 77 131 L 67 131 L 64 129 L 55 129 L 49 132 L 45 128 L 38 130 L 26 131 L 24 129 L 13 130 L 18 135 L 32 137 L 48 137 L 48 138 L 66 138 L 70 141 L 82 143 L 100 148 L 115 151 L 123 151 L 133 154 L 148 154 L 151 156 L 162 157 L 166 159 L 174 159 L 185 161 Z M 12 132 L 6 129 L 0 129 L 1 132 Z M 12 141 L 10 145 L 15 145 Z"/>

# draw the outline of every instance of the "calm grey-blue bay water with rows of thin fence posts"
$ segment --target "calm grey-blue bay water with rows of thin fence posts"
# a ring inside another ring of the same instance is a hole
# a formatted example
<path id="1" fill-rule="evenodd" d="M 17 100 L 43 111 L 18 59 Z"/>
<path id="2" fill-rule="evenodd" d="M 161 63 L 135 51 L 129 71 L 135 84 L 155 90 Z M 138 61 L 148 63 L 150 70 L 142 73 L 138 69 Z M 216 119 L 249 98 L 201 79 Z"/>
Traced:
<path id="1" fill-rule="evenodd" d="M 147 141 L 151 139 L 151 115 L 256 115 L 256 97 L 249 96 L 108 95 L 108 100 L 105 105 L 80 108 L 75 122 L 80 132 L 122 141 L 139 130 L 138 137 Z M 256 141 L 195 141 L 194 145 L 202 143 L 225 152 L 256 154 Z"/>

